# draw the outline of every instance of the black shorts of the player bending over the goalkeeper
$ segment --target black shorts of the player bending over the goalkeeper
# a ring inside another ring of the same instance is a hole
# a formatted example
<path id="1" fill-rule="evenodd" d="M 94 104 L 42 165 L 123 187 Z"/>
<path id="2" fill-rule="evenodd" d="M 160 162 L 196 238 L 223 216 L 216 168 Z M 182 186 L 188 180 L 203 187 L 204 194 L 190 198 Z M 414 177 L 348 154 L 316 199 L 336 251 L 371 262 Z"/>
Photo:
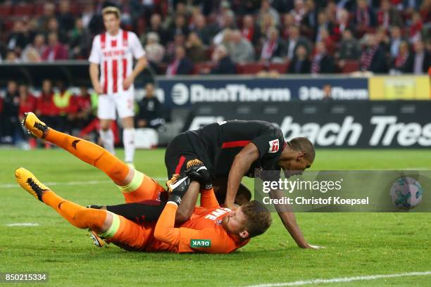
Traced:
<path id="1" fill-rule="evenodd" d="M 178 134 L 170 141 L 165 152 L 165 166 L 168 171 L 168 179 L 173 174 L 186 170 L 186 164 L 189 160 L 199 159 L 198 155 L 190 143 L 189 136 L 185 132 Z"/>

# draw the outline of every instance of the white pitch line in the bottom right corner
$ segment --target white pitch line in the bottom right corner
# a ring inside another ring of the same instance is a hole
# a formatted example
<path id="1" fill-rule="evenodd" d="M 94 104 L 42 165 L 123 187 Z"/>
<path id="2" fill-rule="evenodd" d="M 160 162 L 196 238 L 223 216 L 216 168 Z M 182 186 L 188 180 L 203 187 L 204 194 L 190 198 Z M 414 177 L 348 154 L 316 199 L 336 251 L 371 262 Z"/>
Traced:
<path id="1" fill-rule="evenodd" d="M 383 278 L 396 278 L 405 276 L 427 276 L 431 275 L 431 271 L 427 272 L 408 272 L 398 274 L 380 274 L 380 275 L 368 275 L 368 276 L 354 276 L 344 278 L 332 278 L 332 279 L 311 279 L 306 281 L 294 281 L 285 283 L 263 283 L 258 285 L 249 285 L 247 287 L 280 287 L 280 286 L 304 286 L 311 284 L 324 284 L 324 283 L 340 283 L 340 282 L 352 282 L 352 281 L 366 281 Z"/>

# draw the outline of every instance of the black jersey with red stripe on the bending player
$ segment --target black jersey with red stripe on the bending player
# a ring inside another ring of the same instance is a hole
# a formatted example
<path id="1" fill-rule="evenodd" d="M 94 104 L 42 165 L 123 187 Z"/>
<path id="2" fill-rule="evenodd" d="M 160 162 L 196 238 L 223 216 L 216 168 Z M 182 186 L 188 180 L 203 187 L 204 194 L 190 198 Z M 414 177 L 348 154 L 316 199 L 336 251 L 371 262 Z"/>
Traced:
<path id="1" fill-rule="evenodd" d="M 187 131 L 196 155 L 213 177 L 227 177 L 235 155 L 249 143 L 256 145 L 259 158 L 245 174 L 254 177 L 258 170 L 280 170 L 277 161 L 285 148 L 282 131 L 269 122 L 230 120 Z"/>

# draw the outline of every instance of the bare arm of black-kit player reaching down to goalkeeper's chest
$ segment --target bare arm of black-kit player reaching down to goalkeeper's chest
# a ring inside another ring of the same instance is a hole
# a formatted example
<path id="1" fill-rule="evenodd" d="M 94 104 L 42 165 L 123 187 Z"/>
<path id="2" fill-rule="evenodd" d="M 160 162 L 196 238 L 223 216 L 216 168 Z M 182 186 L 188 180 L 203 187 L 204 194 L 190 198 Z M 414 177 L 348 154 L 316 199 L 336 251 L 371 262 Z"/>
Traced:
<path id="1" fill-rule="evenodd" d="M 230 209 L 235 209 L 235 196 L 241 179 L 244 177 L 246 172 L 251 167 L 251 164 L 259 158 L 258 148 L 253 144 L 247 144 L 242 150 L 235 156 L 235 160 L 230 168 L 229 177 L 227 178 L 227 191 L 225 206 Z"/>

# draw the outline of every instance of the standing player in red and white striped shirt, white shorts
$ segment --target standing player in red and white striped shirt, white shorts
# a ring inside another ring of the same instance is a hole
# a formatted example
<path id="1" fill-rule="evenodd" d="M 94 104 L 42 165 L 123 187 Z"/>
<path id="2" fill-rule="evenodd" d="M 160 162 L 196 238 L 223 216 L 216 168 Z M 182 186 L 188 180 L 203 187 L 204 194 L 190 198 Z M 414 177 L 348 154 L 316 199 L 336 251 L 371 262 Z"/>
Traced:
<path id="1" fill-rule="evenodd" d="M 106 32 L 94 37 L 89 56 L 89 74 L 93 89 L 99 94 L 97 116 L 101 126 L 101 141 L 106 150 L 114 153 L 111 123 L 115 120 L 117 110 L 124 129 L 125 162 L 132 164 L 135 156 L 133 82 L 146 67 L 145 51 L 135 33 L 120 29 L 118 8 L 106 7 L 102 15 Z M 135 68 L 133 58 L 137 59 Z"/>

